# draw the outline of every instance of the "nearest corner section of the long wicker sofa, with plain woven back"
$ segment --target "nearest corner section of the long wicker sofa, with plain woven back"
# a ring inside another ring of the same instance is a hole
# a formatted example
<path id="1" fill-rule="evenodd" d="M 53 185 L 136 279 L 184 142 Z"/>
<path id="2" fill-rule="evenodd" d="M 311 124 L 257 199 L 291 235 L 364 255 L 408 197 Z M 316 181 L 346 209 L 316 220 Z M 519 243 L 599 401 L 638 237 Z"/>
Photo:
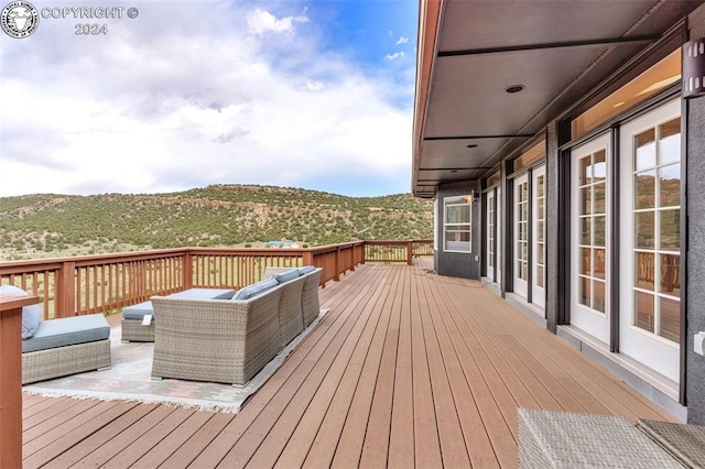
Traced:
<path id="1" fill-rule="evenodd" d="M 281 350 L 282 286 L 250 299 L 152 297 L 153 378 L 245 385 Z"/>

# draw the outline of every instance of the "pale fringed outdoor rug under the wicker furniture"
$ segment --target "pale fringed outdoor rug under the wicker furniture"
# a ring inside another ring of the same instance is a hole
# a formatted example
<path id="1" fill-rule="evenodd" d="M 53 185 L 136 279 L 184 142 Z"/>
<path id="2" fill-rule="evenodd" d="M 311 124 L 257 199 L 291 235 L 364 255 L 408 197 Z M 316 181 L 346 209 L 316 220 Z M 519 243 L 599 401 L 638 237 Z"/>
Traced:
<path id="1" fill-rule="evenodd" d="M 154 343 L 122 343 L 120 326 L 115 326 L 110 329 L 112 368 L 28 384 L 22 391 L 42 396 L 167 404 L 237 414 L 247 399 L 281 367 L 326 313 L 327 309 L 322 309 L 318 317 L 245 386 L 173 379 L 153 381 L 151 371 Z"/>

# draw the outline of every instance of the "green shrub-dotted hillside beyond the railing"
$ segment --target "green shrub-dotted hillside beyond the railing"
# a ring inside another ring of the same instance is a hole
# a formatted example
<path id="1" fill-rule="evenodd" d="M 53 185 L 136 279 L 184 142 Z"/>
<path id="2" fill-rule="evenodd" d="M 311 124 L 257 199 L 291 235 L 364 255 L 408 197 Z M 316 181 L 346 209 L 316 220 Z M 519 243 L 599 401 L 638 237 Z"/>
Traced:
<path id="1" fill-rule="evenodd" d="M 361 233 L 360 231 L 371 227 Z M 182 247 L 322 246 L 429 239 L 433 205 L 410 194 L 346 197 L 272 186 L 172 194 L 0 197 L 0 260 Z"/>

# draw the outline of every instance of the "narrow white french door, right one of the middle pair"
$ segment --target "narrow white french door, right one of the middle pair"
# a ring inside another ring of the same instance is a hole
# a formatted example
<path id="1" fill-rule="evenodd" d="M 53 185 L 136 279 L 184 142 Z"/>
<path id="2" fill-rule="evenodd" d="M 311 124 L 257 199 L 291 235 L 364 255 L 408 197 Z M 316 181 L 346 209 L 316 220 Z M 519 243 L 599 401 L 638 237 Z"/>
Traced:
<path id="1" fill-rule="evenodd" d="M 545 306 L 546 279 L 546 167 L 539 166 L 531 174 L 531 269 L 532 292 L 531 302 L 536 306 Z"/>

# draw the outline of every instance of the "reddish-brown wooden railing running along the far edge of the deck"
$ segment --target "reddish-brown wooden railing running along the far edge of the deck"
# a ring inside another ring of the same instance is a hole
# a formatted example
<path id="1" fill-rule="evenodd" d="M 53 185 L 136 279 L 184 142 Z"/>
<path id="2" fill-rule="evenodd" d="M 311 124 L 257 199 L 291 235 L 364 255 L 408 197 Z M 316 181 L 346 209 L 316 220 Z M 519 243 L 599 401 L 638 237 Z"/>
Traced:
<path id="1" fill-rule="evenodd" d="M 306 249 L 182 248 L 0 262 L 0 284 L 40 297 L 43 318 L 109 313 L 191 287 L 240 288 L 268 266 L 323 268 L 321 286 L 365 262 L 433 254 L 432 241 L 355 241 Z"/>

